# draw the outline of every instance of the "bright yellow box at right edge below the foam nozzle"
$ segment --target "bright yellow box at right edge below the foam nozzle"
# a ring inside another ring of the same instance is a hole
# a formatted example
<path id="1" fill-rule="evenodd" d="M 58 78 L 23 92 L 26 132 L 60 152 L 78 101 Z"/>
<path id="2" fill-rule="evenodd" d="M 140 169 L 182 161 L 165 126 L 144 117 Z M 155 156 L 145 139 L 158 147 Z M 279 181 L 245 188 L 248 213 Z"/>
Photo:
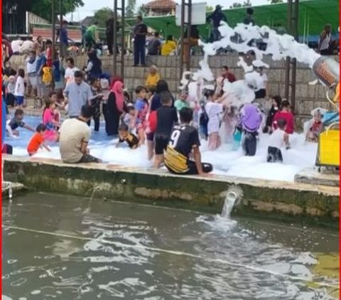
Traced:
<path id="1" fill-rule="evenodd" d="M 329 129 L 320 134 L 319 164 L 322 166 L 340 165 L 340 131 Z"/>

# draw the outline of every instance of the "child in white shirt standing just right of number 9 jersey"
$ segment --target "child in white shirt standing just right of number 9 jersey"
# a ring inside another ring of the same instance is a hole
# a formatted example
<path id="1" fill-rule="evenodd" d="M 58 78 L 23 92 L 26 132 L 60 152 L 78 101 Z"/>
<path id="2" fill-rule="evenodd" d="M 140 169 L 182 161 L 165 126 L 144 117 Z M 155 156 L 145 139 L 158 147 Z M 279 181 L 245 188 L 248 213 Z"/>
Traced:
<path id="1" fill-rule="evenodd" d="M 207 135 L 208 135 L 208 149 L 213 151 L 219 148 L 222 144 L 222 140 L 219 135 L 220 128 L 220 115 L 223 112 L 223 106 L 220 103 L 215 103 L 213 96 L 214 90 L 206 90 L 205 97 L 207 103 L 202 106 L 205 109 L 208 122 L 207 122 Z"/>

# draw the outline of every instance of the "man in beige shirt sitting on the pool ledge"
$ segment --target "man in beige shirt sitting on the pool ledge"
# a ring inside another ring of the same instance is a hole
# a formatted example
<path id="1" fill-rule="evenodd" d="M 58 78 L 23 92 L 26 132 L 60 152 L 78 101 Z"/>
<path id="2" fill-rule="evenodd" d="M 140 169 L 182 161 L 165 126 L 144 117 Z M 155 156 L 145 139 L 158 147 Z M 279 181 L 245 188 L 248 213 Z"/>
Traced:
<path id="1" fill-rule="evenodd" d="M 87 122 L 92 118 L 92 107 L 83 105 L 80 116 L 66 119 L 60 127 L 60 156 L 64 163 L 101 163 L 100 159 L 90 155 L 87 148 L 91 138 L 91 129 Z"/>

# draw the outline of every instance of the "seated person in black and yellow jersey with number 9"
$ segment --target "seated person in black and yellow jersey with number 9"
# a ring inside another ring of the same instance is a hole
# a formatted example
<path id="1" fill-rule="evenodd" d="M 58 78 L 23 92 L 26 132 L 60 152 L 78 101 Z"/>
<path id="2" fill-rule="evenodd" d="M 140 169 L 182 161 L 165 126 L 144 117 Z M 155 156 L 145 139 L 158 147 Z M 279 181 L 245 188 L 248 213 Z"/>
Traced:
<path id="1" fill-rule="evenodd" d="M 213 170 L 211 164 L 201 162 L 199 134 L 195 127 L 190 126 L 192 120 L 192 109 L 184 107 L 180 110 L 181 124 L 173 127 L 165 153 L 165 164 L 171 173 L 203 175 Z M 190 160 L 192 151 L 194 161 Z"/>

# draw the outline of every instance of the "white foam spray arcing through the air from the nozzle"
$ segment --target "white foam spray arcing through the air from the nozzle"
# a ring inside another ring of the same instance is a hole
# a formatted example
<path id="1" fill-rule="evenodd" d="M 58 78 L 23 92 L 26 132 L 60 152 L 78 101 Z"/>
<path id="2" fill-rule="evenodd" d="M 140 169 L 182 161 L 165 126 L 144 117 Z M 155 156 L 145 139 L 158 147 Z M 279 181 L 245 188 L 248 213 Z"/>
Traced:
<path id="1" fill-rule="evenodd" d="M 269 68 L 269 65 L 264 63 L 264 55 L 271 55 L 272 60 L 282 60 L 287 56 L 291 58 L 296 58 L 298 62 L 306 63 L 310 68 L 313 65 L 320 54 L 316 53 L 313 49 L 308 48 L 308 45 L 303 43 L 298 43 L 295 41 L 293 36 L 288 34 L 279 35 L 273 29 L 268 26 L 251 26 L 239 23 L 235 28 L 231 28 L 227 23 L 222 23 L 219 28 L 222 39 L 220 41 L 215 41 L 214 43 L 203 43 L 199 41 L 199 45 L 202 46 L 204 51 L 204 58 L 200 61 L 200 70 L 191 74 L 191 79 L 195 82 L 190 82 L 190 80 L 185 79 L 185 74 L 183 80 L 181 80 L 181 87 L 183 89 L 188 85 L 188 90 L 191 96 L 196 95 L 196 82 L 203 80 L 204 82 L 212 82 L 215 77 L 210 70 L 208 63 L 208 58 L 211 55 L 215 55 L 217 50 L 220 48 L 232 49 L 237 51 L 237 53 L 248 53 L 249 51 L 254 51 L 254 61 L 249 64 L 244 61 L 244 58 L 239 58 L 239 65 L 244 69 L 244 80 L 237 80 L 236 82 L 230 83 L 225 82 L 223 87 L 224 91 L 231 95 L 230 105 L 242 105 L 244 103 L 250 103 L 254 100 L 254 79 L 259 76 L 256 71 L 254 71 L 254 66 Z M 261 40 L 266 43 L 266 49 L 260 50 L 257 48 L 252 41 Z M 188 73 L 186 73 L 188 75 Z M 208 83 L 210 85 L 210 83 Z M 207 87 L 207 86 L 206 86 Z"/>

